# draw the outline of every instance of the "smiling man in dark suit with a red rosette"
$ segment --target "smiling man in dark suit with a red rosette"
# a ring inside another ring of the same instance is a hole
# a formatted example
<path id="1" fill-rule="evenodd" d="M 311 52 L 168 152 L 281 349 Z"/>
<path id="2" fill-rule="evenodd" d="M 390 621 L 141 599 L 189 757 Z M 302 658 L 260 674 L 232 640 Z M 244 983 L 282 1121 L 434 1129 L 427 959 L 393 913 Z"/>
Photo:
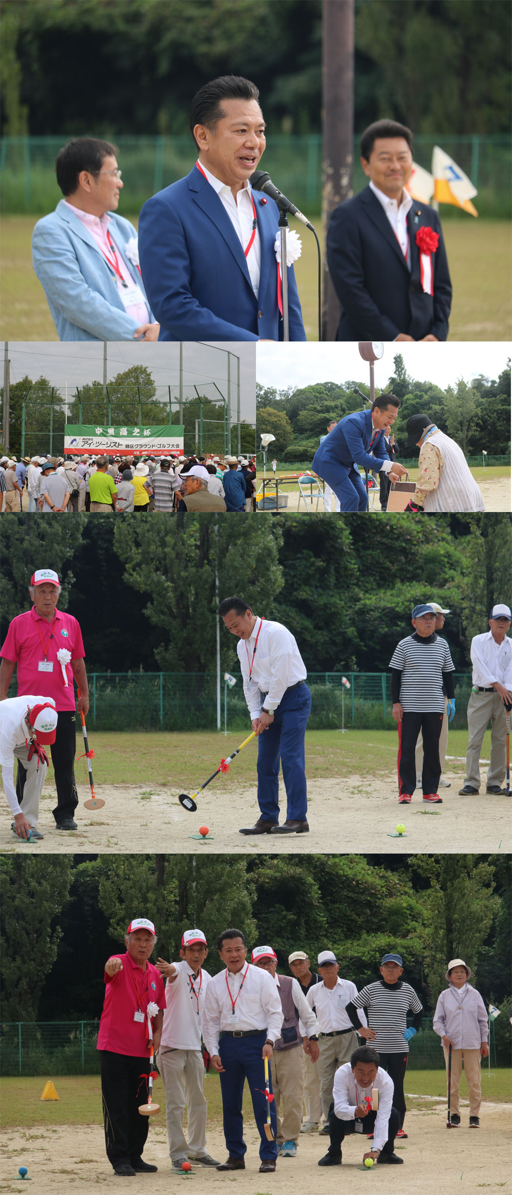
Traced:
<path id="1" fill-rule="evenodd" d="M 361 136 L 370 178 L 334 209 L 327 259 L 341 304 L 337 341 L 445 341 L 451 282 L 439 216 L 407 190 L 413 134 L 376 121 Z"/>

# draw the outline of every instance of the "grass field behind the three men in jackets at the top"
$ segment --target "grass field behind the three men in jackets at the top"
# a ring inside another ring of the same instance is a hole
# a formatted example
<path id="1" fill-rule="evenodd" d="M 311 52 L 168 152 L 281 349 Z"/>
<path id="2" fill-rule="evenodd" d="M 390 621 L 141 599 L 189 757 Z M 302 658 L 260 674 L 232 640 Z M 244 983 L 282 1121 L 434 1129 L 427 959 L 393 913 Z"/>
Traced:
<path id="1" fill-rule="evenodd" d="M 123 213 L 126 215 L 127 213 Z M 130 217 L 136 225 L 136 216 Z M 54 321 L 32 270 L 30 241 L 37 216 L 4 216 L 0 338 L 56 341 Z M 316 228 L 322 244 L 322 222 Z M 453 283 L 451 341 L 507 341 L 511 336 L 511 232 L 499 220 L 446 220 L 446 250 Z M 318 337 L 317 249 L 301 232 L 303 256 L 295 265 L 309 341 Z"/>

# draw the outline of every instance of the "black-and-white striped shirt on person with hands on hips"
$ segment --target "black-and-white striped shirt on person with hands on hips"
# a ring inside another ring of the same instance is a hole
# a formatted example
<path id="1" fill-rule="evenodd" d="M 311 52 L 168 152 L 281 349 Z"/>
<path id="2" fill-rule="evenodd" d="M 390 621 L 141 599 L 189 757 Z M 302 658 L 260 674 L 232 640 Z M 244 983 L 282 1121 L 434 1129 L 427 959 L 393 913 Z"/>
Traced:
<path id="1" fill-rule="evenodd" d="M 352 1004 L 355 1009 L 366 1009 L 370 1029 L 374 1029 L 377 1034 L 368 1046 L 383 1054 L 408 1052 L 409 1042 L 403 1037 L 407 1013 L 409 1010 L 421 1012 L 423 1007 L 410 983 L 404 983 L 403 980 L 398 980 L 392 987 L 386 987 L 382 980 L 367 983 L 352 998 Z"/>

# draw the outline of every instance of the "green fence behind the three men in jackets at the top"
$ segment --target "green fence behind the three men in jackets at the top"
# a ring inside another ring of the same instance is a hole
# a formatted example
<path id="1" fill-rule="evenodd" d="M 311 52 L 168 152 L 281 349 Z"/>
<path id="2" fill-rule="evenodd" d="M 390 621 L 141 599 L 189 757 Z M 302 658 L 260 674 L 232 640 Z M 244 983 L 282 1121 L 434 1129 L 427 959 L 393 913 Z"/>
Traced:
<path id="1" fill-rule="evenodd" d="M 4 213 L 31 212 L 43 215 L 62 198 L 55 180 L 55 158 L 71 136 L 4 137 L 0 153 L 1 203 Z M 183 178 L 191 170 L 195 154 L 189 136 L 120 136 L 118 163 L 124 190 L 121 215 L 136 214 L 156 191 Z M 506 136 L 427 136 L 414 140 L 414 159 L 431 170 L 432 149 L 439 145 L 455 159 L 477 188 L 476 210 L 481 216 L 506 219 L 510 215 L 511 146 Z M 322 137 L 273 135 L 264 153 L 264 170 L 309 215 L 322 203 Z M 359 164 L 359 137 L 354 137 L 354 191 L 366 179 Z M 441 207 L 443 214 L 453 208 Z"/>

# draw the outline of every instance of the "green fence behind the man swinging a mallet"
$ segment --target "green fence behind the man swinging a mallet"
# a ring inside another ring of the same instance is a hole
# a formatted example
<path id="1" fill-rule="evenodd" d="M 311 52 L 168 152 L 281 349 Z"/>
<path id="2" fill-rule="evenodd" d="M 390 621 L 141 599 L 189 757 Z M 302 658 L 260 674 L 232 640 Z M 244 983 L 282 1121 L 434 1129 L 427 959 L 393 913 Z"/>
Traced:
<path id="1" fill-rule="evenodd" d="M 349 682 L 347 688 L 342 675 Z M 391 675 L 389 673 L 310 673 L 310 730 L 391 730 Z M 451 727 L 467 727 L 470 674 L 455 675 L 457 713 Z M 16 697 L 16 680 L 8 697 Z M 227 698 L 227 727 L 244 730 L 248 707 L 237 676 Z M 215 673 L 90 673 L 87 725 L 93 730 L 215 730 Z"/>

